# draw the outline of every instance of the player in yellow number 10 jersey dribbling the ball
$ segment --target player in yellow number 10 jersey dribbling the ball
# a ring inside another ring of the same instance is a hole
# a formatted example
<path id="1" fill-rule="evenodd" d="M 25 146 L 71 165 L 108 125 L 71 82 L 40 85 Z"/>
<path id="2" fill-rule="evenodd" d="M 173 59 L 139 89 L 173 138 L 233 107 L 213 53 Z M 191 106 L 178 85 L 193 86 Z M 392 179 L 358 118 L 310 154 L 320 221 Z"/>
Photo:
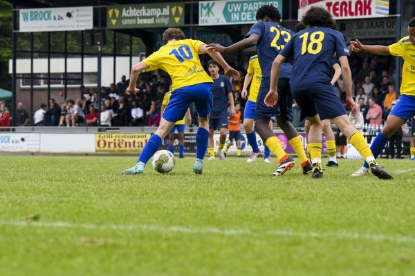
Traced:
<path id="1" fill-rule="evenodd" d="M 209 123 L 208 117 L 212 108 L 212 79 L 206 74 L 199 55 L 208 53 L 225 71 L 225 75 L 239 78 L 239 72 L 231 68 L 223 57 L 199 40 L 185 39 L 181 29 L 168 28 L 163 33 L 163 43 L 157 52 L 149 55 L 131 70 L 127 92 L 138 92 L 136 82 L 142 70 L 162 69 L 172 78 L 172 97 L 163 113 L 160 126 L 151 135 L 142 149 L 136 166 L 124 170 L 123 175 L 144 173 L 145 164 L 154 155 L 162 140 L 169 134 L 176 121 L 185 117 L 191 103 L 196 106 L 199 115 L 199 129 L 196 132 L 196 161 L 193 171 L 201 174 L 203 158 L 208 148 Z"/>

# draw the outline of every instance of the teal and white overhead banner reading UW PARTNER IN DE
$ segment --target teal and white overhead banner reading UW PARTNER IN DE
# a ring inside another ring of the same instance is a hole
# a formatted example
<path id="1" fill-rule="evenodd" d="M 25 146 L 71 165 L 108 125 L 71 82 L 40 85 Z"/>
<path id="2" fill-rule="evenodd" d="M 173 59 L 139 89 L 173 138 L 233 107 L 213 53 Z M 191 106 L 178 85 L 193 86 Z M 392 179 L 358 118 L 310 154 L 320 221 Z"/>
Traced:
<path id="1" fill-rule="evenodd" d="M 199 25 L 226 25 L 255 23 L 257 10 L 264 5 L 273 5 L 282 14 L 282 0 L 276 1 L 200 1 Z"/>

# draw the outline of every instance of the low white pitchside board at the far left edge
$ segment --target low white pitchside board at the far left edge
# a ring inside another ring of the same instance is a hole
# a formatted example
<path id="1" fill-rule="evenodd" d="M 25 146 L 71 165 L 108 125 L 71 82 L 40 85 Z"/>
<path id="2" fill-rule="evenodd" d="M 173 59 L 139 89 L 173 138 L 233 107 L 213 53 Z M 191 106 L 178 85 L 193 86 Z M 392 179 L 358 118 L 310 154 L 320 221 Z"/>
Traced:
<path id="1" fill-rule="evenodd" d="M 3 152 L 39 152 L 39 133 L 0 132 L 0 151 Z"/>

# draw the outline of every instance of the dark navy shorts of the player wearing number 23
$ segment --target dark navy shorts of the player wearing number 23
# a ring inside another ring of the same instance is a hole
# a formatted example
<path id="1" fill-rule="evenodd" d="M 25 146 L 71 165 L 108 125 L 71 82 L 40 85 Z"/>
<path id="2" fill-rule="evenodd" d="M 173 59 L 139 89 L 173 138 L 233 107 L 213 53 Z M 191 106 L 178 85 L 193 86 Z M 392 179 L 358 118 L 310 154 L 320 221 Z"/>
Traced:
<path id="1" fill-rule="evenodd" d="M 269 108 L 265 105 L 264 99 L 270 90 L 269 79 L 262 79 L 259 88 L 257 106 L 255 108 L 255 119 L 268 119 L 270 117 L 284 117 L 287 121 L 293 119 L 293 96 L 291 95 L 290 79 L 278 79 L 278 103 Z"/>

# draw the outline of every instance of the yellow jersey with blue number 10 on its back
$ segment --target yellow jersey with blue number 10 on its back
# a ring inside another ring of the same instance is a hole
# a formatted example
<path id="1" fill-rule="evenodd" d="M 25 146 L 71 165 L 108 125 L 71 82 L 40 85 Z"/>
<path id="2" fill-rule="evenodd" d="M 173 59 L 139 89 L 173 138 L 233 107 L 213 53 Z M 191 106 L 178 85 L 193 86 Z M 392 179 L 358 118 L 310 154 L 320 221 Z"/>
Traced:
<path id="1" fill-rule="evenodd" d="M 183 86 L 213 82 L 201 65 L 199 47 L 202 41 L 183 39 L 170 41 L 152 53 L 142 62 L 149 68 L 146 71 L 161 69 L 172 78 L 172 91 Z"/>

